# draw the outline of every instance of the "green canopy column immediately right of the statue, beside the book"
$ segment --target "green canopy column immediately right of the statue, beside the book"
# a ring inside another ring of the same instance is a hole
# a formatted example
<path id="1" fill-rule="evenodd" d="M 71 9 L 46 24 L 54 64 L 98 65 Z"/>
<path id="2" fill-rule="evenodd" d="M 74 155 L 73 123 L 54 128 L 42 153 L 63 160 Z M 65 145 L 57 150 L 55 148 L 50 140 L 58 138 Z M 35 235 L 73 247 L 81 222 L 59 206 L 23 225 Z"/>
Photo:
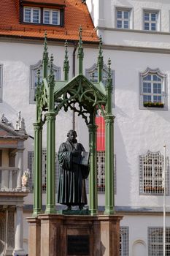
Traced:
<path id="1" fill-rule="evenodd" d="M 97 126 L 94 122 L 88 125 L 90 149 L 89 208 L 91 215 L 97 214 L 98 211 L 96 130 Z"/>

